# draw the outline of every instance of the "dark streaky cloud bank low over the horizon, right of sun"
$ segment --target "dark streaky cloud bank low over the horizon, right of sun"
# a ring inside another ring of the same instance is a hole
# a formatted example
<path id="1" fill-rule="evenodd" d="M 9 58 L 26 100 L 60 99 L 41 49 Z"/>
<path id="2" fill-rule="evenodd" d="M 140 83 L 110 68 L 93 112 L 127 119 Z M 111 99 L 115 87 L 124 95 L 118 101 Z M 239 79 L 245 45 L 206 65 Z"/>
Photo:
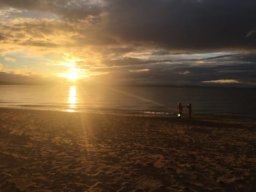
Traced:
<path id="1" fill-rule="evenodd" d="M 111 68 L 111 73 L 106 75 L 116 82 L 127 84 L 168 84 L 168 85 L 202 85 L 204 81 L 215 81 L 219 79 L 233 79 L 242 82 L 239 85 L 256 84 L 256 61 L 252 58 L 256 54 L 226 54 L 223 57 L 212 57 L 213 63 L 197 65 L 202 59 L 182 59 L 183 63 L 166 62 L 167 60 L 152 61 L 126 58 L 126 60 L 115 60 L 112 65 L 123 66 Z M 229 62 L 226 63 L 226 59 Z M 247 62 L 247 58 L 251 62 Z M 217 61 L 218 65 L 214 62 Z M 186 61 L 186 62 L 185 62 Z M 123 62 L 123 63 L 122 63 Z M 132 65 L 133 63 L 133 65 Z M 157 65 L 156 65 L 157 63 Z M 154 64 L 154 65 L 151 65 Z M 145 70 L 146 69 L 146 70 Z M 108 71 L 109 69 L 99 69 Z M 230 84 L 229 84 L 230 85 Z"/>

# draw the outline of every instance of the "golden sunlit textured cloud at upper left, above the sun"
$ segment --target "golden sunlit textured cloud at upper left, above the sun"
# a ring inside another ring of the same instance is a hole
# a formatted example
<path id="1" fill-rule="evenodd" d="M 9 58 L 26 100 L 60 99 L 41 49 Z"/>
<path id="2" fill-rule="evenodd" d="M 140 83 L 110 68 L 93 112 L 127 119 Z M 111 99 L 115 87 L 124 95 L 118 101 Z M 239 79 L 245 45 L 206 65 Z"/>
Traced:
<path id="1" fill-rule="evenodd" d="M 81 22 L 33 18 L 8 19 L 5 22 L 5 25 L 0 25 L 0 42 L 2 40 L 4 52 L 14 49 L 55 52 L 58 47 L 64 53 L 85 54 L 91 47 L 94 47 L 94 50 L 99 47 L 104 52 L 106 46 L 117 45 L 114 38 L 102 34 L 97 26 L 92 27 Z M 116 50 L 118 49 L 119 47 L 116 47 Z M 129 51 L 132 48 L 120 50 Z"/>

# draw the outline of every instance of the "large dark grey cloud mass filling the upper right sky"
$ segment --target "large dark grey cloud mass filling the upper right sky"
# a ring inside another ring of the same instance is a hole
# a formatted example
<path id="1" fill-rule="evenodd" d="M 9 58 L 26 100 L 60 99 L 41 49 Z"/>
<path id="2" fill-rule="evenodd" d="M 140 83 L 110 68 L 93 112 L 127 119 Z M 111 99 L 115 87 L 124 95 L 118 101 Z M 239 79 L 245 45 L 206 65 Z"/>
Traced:
<path id="1" fill-rule="evenodd" d="M 108 30 L 126 42 L 172 50 L 255 49 L 256 2 L 142 0 L 109 2 Z"/>

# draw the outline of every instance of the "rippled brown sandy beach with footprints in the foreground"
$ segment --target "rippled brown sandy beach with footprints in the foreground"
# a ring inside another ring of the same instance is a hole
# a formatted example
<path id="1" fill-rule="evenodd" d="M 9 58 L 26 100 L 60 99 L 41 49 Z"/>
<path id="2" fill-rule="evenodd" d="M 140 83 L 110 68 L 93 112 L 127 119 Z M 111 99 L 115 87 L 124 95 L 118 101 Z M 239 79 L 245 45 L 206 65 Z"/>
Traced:
<path id="1" fill-rule="evenodd" d="M 255 191 L 256 123 L 0 109 L 0 191 Z"/>

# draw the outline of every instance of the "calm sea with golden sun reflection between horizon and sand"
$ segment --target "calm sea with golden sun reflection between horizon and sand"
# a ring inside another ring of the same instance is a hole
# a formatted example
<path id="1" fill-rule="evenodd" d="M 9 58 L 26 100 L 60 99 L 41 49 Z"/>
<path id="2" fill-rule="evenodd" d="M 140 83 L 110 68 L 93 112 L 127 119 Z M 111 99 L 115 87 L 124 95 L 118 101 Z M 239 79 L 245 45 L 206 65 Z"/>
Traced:
<path id="1" fill-rule="evenodd" d="M 169 115 L 190 102 L 193 113 L 255 119 L 255 98 L 255 89 L 241 88 L 0 85 L 0 107 L 69 112 Z"/>

